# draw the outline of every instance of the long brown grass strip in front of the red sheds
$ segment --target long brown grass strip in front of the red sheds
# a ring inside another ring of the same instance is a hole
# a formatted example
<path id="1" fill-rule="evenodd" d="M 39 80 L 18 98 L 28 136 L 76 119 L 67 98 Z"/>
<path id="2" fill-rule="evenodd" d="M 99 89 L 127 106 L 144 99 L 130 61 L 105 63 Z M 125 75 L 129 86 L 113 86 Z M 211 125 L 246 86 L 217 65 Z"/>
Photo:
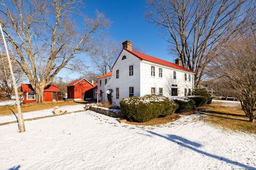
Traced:
<path id="1" fill-rule="evenodd" d="M 32 111 L 39 111 L 47 108 L 53 108 L 55 106 L 67 106 L 67 105 L 81 105 L 85 104 L 83 102 L 74 102 L 74 101 L 60 101 L 60 102 L 45 102 L 43 104 L 36 104 L 36 103 L 31 103 L 31 104 L 25 104 L 21 105 L 21 112 L 32 112 Z M 9 115 L 13 113 L 17 113 L 17 106 L 12 105 L 12 106 L 0 106 L 0 115 Z"/>

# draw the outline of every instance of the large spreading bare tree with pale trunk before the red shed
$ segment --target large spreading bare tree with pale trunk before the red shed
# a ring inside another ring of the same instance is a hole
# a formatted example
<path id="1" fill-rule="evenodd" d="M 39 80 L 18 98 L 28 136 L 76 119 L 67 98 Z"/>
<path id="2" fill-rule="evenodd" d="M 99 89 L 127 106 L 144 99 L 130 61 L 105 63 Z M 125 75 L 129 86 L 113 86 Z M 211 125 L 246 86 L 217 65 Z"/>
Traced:
<path id="1" fill-rule="evenodd" d="M 75 24 L 80 3 L 71 0 L 1 1 L 0 23 L 10 42 L 15 61 L 27 75 L 36 92 L 37 103 L 43 103 L 44 87 L 77 54 L 90 51 L 89 39 L 109 24 L 102 13 L 95 19 L 84 18 Z"/>

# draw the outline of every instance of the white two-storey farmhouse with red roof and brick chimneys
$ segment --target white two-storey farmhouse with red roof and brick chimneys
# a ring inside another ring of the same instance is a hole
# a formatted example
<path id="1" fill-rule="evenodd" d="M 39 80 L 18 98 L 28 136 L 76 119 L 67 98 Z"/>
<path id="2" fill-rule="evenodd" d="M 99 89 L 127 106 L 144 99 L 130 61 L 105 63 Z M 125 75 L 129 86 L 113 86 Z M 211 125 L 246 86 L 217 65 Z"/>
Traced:
<path id="1" fill-rule="evenodd" d="M 126 40 L 112 72 L 98 80 L 99 100 L 119 106 L 125 97 L 163 95 L 189 96 L 194 89 L 194 72 L 181 66 L 132 50 L 132 42 Z"/>

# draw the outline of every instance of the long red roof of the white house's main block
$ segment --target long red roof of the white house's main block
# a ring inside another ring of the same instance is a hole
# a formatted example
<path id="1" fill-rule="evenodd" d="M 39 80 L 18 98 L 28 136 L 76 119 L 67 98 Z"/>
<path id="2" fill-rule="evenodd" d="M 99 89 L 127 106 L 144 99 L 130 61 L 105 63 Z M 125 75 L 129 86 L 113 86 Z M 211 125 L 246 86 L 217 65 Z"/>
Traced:
<path id="1" fill-rule="evenodd" d="M 195 73 L 194 71 L 191 71 L 189 69 L 187 69 L 186 67 L 183 67 L 181 65 L 178 65 L 178 64 L 174 64 L 174 63 L 171 63 L 171 62 L 167 62 L 165 60 L 162 60 L 160 58 L 156 58 L 156 57 L 153 57 L 153 56 L 150 56 L 150 55 L 146 55 L 146 54 L 142 54 L 142 53 L 139 53 L 139 52 L 135 52 L 135 51 L 131 51 L 129 49 L 126 49 L 126 48 L 123 48 L 123 50 L 126 50 L 127 52 L 131 53 L 132 55 L 134 55 L 135 57 L 138 57 L 140 60 L 145 60 L 145 61 L 149 61 L 149 62 L 153 62 L 153 63 L 157 63 L 157 64 L 161 64 L 161 65 L 165 65 L 165 66 L 169 66 L 169 67 L 173 67 L 175 69 L 179 69 L 179 70 L 183 70 L 183 71 L 188 71 L 188 72 L 191 72 L 191 73 Z M 122 50 L 122 52 L 123 52 Z M 122 53 L 121 52 L 121 53 Z M 120 53 L 120 54 L 121 54 Z M 120 56 L 119 54 L 119 56 Z M 118 56 L 118 57 L 119 57 Z M 118 58 L 117 58 L 118 60 Z M 117 61 L 116 60 L 116 61 Z M 115 65 L 116 63 L 114 63 Z M 114 67 L 113 65 L 113 67 Z"/>

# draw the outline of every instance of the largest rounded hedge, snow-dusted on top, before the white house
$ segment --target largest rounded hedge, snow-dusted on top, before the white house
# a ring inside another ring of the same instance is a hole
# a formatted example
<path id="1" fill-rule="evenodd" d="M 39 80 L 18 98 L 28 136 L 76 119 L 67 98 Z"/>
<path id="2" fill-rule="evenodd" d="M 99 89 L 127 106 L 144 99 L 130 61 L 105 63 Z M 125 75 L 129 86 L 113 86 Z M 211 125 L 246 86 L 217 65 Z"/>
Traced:
<path id="1" fill-rule="evenodd" d="M 159 116 L 170 115 L 179 107 L 167 97 L 146 95 L 124 98 L 120 101 L 122 114 L 127 120 L 147 122 Z"/>

